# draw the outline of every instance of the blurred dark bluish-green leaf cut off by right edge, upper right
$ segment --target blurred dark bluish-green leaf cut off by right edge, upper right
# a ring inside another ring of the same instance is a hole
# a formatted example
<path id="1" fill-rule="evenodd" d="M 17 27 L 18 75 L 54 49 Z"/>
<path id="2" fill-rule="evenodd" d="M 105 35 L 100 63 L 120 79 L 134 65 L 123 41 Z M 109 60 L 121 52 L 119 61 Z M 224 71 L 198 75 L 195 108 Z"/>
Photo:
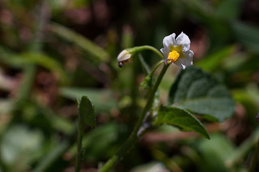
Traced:
<path id="1" fill-rule="evenodd" d="M 232 22 L 231 27 L 236 39 L 248 50 L 259 54 L 259 28 L 241 22 Z"/>

